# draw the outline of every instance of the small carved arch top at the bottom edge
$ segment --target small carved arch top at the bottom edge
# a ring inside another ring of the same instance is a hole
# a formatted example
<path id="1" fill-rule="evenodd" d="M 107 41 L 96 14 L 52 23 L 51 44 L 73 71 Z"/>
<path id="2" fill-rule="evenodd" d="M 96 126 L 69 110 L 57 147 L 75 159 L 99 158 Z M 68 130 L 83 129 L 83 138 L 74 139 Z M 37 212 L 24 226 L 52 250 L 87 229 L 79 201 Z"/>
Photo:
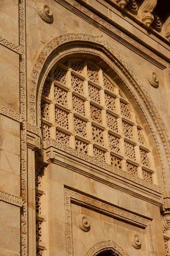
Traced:
<path id="1" fill-rule="evenodd" d="M 112 253 L 113 256 L 129 256 L 117 243 L 113 240 L 101 241 L 92 246 L 84 256 L 99 256 L 102 252 Z M 111 254 L 111 255 L 112 255 Z"/>

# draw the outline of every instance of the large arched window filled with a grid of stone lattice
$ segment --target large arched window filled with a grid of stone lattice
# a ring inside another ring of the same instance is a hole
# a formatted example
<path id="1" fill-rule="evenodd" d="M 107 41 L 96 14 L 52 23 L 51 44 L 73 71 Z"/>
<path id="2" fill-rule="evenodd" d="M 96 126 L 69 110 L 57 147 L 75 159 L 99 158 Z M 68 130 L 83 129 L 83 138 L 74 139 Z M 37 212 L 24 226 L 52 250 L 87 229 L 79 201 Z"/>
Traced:
<path id="1" fill-rule="evenodd" d="M 41 97 L 43 140 L 52 138 L 152 182 L 145 133 L 128 100 L 94 62 L 57 63 Z"/>

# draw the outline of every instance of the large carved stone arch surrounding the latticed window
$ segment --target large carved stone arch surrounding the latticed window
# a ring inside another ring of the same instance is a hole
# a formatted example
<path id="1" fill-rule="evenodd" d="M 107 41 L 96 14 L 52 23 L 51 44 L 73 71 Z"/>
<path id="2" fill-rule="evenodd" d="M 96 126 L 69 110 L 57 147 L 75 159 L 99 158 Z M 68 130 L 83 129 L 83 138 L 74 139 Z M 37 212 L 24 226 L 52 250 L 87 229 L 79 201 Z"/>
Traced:
<path id="1" fill-rule="evenodd" d="M 72 33 L 61 35 L 60 37 L 54 38 L 47 43 L 36 59 L 31 74 L 30 88 L 28 93 L 28 122 L 32 125 L 39 126 L 39 118 L 37 118 L 39 115 L 38 106 L 40 105 L 40 95 L 43 84 L 49 70 L 63 57 L 76 54 L 78 52 L 81 54 L 98 55 L 98 57 L 100 57 L 103 62 L 107 63 L 109 68 L 117 75 L 119 81 L 121 81 L 123 84 L 122 89 L 129 91 L 129 100 L 133 101 L 134 107 L 136 106 L 141 110 L 141 113 L 145 116 L 146 123 L 155 139 L 155 144 L 160 157 L 160 163 L 162 165 L 165 184 L 165 159 L 162 159 L 161 150 L 158 145 L 158 140 L 160 139 L 162 139 L 162 142 L 164 142 L 163 146 L 165 147 L 165 141 L 169 141 L 168 133 L 164 126 L 163 120 L 138 77 L 133 73 L 132 69 L 127 65 L 127 63 L 120 57 L 117 51 L 104 40 L 103 36 L 95 37 L 88 34 Z M 154 128 L 153 124 L 155 126 Z M 157 137 L 154 130 L 157 130 L 157 132 L 160 134 L 159 137 Z M 166 154 L 168 155 L 168 149 L 165 148 L 165 150 Z"/>

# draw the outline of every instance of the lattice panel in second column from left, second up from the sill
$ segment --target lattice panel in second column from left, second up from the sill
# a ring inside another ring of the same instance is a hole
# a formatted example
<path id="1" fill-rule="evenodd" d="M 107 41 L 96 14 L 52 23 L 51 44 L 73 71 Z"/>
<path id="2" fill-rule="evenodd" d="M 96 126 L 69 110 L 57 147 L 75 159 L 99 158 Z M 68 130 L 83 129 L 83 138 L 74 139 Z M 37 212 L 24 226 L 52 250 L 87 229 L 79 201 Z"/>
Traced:
<path id="1" fill-rule="evenodd" d="M 69 117 L 68 113 L 61 110 L 55 109 L 55 122 L 58 126 L 61 126 L 64 129 L 69 129 Z"/>

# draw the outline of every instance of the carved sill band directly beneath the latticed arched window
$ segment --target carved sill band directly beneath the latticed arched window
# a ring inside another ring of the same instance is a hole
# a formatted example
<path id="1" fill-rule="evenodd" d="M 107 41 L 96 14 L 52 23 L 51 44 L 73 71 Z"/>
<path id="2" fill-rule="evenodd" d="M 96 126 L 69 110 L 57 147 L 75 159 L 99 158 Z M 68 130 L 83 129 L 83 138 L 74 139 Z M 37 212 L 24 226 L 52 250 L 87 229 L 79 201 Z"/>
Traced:
<path id="1" fill-rule="evenodd" d="M 137 184 L 148 187 L 152 190 L 155 190 L 158 193 L 162 193 L 162 189 L 160 187 L 158 187 L 157 185 L 150 183 L 148 181 L 145 181 L 143 179 L 140 179 L 139 177 L 136 177 L 135 175 L 131 175 L 130 173 L 128 173 L 126 171 L 114 168 L 113 166 L 109 165 L 108 163 L 105 163 L 102 160 L 99 160 L 95 157 L 89 156 L 81 151 L 75 150 L 74 148 L 66 146 L 63 143 L 57 142 L 53 139 L 49 139 L 46 141 L 46 147 L 50 147 L 50 146 L 54 146 L 54 147 L 66 152 L 66 153 L 69 153 L 75 157 L 79 157 L 85 161 L 91 162 L 92 164 L 102 167 L 112 173 L 118 174 L 121 177 L 123 176 L 128 180 L 136 182 Z"/>

